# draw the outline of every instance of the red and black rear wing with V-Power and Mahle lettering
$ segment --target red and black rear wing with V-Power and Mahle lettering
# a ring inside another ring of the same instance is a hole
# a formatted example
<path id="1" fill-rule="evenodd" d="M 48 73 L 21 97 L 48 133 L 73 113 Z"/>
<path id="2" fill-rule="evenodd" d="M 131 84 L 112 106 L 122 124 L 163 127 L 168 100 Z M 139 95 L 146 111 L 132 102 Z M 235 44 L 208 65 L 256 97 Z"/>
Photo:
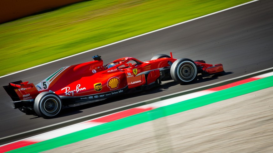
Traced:
<path id="1" fill-rule="evenodd" d="M 10 98 L 15 101 L 26 101 L 34 99 L 39 94 L 34 84 L 28 84 L 28 82 L 15 81 L 9 83 L 7 86 L 3 86 Z"/>

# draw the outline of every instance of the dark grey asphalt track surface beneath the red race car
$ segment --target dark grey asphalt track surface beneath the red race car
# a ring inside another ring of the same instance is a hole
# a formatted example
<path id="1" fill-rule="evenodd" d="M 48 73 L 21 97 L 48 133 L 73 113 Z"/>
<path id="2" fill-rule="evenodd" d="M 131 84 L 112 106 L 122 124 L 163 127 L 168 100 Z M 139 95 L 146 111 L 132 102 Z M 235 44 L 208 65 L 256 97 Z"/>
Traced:
<path id="1" fill-rule="evenodd" d="M 109 63 L 126 56 L 146 61 L 150 60 L 153 55 L 169 55 L 169 52 L 174 52 L 174 58 L 205 60 L 209 64 L 221 63 L 226 72 L 223 76 L 200 79 L 189 85 L 179 85 L 170 81 L 147 92 L 69 108 L 53 119 L 26 115 L 19 110 L 14 110 L 9 103 L 10 97 L 3 88 L 0 88 L 0 138 L 271 68 L 273 67 L 272 8 L 273 1 L 270 0 L 253 2 L 179 26 L 0 78 L 0 86 L 8 85 L 9 82 L 17 80 L 37 84 L 60 67 L 93 60 L 93 55 L 100 55 L 104 63 Z M 26 62 L 28 60 L 31 59 L 26 59 Z M 0 142 L 0 145 L 5 143 L 7 142 Z"/>

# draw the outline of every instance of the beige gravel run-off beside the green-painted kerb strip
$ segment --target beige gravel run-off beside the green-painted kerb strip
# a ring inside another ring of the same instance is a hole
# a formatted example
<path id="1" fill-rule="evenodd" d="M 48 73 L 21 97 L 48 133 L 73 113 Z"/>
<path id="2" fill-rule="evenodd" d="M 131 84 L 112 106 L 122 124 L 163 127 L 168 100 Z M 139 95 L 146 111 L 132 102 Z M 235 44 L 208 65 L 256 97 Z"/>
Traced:
<path id="1" fill-rule="evenodd" d="M 273 87 L 45 152 L 272 152 Z"/>

